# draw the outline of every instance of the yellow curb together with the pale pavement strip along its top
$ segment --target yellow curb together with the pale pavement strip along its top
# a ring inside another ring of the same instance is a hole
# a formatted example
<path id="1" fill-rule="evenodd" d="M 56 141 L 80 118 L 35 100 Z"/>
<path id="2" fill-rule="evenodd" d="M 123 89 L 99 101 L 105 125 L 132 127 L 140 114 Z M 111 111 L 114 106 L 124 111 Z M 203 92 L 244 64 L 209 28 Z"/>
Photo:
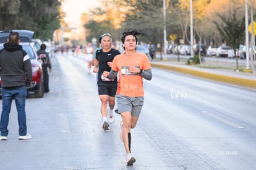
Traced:
<path id="1" fill-rule="evenodd" d="M 256 89 L 256 74 L 249 72 L 236 72 L 228 69 L 201 68 L 194 65 L 187 65 L 184 61 L 163 61 L 155 60 L 151 62 L 152 67 L 173 70 L 183 74 L 202 77 L 203 79 L 215 80 L 218 82 L 229 83 L 241 87 Z"/>

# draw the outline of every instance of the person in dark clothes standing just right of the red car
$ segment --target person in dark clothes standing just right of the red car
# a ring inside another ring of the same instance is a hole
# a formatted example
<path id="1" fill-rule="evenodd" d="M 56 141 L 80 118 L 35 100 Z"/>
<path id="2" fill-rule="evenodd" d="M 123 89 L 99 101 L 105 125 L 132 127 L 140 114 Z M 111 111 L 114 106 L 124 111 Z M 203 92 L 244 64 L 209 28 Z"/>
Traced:
<path id="1" fill-rule="evenodd" d="M 49 54 L 45 51 L 46 45 L 41 44 L 40 50 L 37 51 L 37 54 L 39 56 L 40 62 L 43 67 L 43 84 L 45 86 L 45 92 L 49 92 L 49 74 L 48 74 L 48 67 L 49 72 L 51 72 L 51 61 L 49 59 Z"/>

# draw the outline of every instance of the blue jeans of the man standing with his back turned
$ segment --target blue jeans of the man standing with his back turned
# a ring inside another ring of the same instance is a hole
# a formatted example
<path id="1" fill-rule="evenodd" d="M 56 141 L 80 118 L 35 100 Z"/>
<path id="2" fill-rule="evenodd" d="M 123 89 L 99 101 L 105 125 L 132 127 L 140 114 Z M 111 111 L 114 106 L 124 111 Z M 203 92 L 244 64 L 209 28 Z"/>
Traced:
<path id="1" fill-rule="evenodd" d="M 19 122 L 19 135 L 25 136 L 27 134 L 27 119 L 25 112 L 25 100 L 27 97 L 27 89 L 24 86 L 16 89 L 4 89 L 2 88 L 2 114 L 0 121 L 1 136 L 7 137 L 9 130 L 7 126 L 9 124 L 9 114 L 12 106 L 12 99 L 14 98 L 16 109 L 18 112 Z"/>

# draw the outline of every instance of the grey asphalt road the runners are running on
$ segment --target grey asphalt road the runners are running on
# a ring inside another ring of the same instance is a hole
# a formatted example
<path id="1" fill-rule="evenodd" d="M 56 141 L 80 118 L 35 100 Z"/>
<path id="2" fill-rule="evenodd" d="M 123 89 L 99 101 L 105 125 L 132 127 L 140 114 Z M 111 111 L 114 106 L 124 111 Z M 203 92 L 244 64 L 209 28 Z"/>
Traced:
<path id="1" fill-rule="evenodd" d="M 27 99 L 31 140 L 17 140 L 15 103 L 0 169 L 256 169 L 256 91 L 153 68 L 126 166 L 119 122 L 102 129 L 85 57 L 52 59 L 50 93 Z"/>

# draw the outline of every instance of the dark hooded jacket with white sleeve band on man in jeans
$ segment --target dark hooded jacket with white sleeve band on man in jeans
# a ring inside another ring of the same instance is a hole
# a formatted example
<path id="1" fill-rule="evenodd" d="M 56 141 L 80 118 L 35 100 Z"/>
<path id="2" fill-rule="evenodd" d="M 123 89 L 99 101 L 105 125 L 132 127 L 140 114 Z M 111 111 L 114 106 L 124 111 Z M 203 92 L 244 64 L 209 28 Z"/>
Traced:
<path id="1" fill-rule="evenodd" d="M 30 57 L 17 43 L 8 42 L 0 50 L 1 87 L 30 85 L 32 66 Z"/>

